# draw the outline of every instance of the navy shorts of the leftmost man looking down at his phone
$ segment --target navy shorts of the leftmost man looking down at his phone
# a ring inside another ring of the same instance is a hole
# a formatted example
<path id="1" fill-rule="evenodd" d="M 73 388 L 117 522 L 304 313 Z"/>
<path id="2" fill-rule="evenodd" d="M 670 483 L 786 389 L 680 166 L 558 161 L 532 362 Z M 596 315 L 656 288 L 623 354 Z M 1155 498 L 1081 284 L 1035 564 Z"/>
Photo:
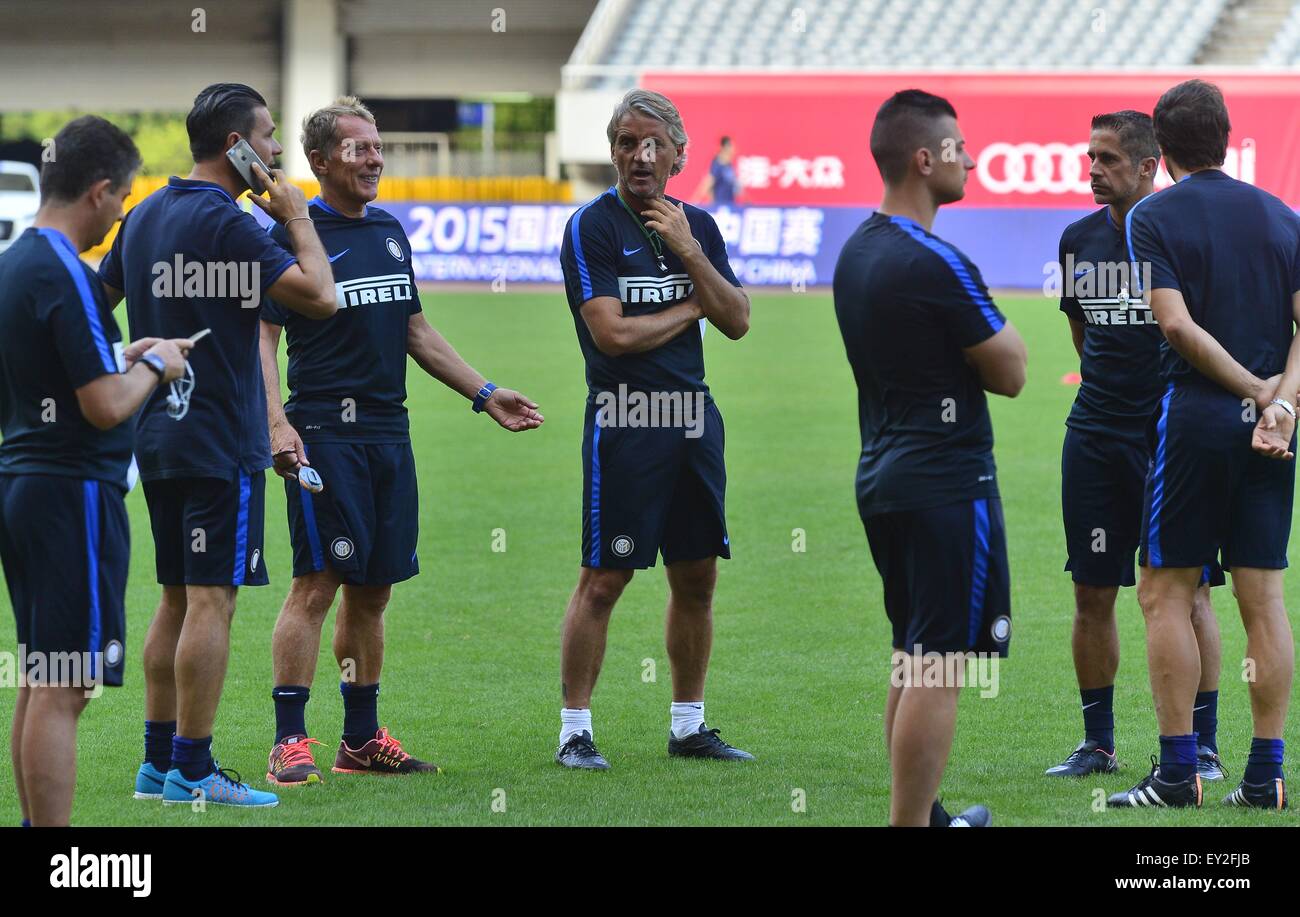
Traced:
<path id="1" fill-rule="evenodd" d="M 130 557 L 120 488 L 0 475 L 0 562 L 31 683 L 122 684 Z"/>

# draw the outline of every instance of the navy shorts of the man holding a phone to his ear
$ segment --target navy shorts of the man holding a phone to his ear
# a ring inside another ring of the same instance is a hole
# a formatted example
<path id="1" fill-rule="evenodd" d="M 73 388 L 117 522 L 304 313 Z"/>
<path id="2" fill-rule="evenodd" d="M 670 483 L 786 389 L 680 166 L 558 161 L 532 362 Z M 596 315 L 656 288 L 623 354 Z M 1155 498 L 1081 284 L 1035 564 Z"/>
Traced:
<path id="1" fill-rule="evenodd" d="M 144 481 L 161 585 L 266 585 L 265 472 Z"/>

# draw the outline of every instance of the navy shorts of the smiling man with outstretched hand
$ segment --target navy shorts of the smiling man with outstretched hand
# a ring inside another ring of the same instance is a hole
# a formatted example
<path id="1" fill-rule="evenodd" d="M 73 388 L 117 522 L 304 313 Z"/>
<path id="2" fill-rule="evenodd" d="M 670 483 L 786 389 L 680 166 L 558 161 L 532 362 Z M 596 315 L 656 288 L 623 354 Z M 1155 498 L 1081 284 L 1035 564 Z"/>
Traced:
<path id="1" fill-rule="evenodd" d="M 325 489 L 285 480 L 294 576 L 328 563 L 348 585 L 390 585 L 420 572 L 420 493 L 410 442 L 315 442 L 307 460 Z"/>

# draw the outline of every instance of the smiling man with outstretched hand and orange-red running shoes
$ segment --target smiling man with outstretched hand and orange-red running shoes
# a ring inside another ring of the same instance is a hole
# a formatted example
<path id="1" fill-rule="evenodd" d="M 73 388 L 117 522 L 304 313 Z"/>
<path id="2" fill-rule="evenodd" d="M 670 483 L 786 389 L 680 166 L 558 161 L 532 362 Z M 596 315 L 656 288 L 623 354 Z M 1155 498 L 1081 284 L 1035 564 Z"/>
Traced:
<path id="1" fill-rule="evenodd" d="M 407 354 L 434 379 L 508 431 L 542 424 L 537 405 L 497 388 L 467 364 L 420 311 L 411 243 L 402 224 L 370 202 L 378 196 L 384 148 L 374 116 L 344 96 L 303 122 L 303 152 L 321 183 L 311 202 L 316 232 L 333 263 L 338 312 L 316 321 L 268 302 L 261 315 L 261 368 L 276 470 L 285 476 L 294 581 L 272 641 L 276 741 L 266 779 L 321 782 L 306 708 L 320 656 L 321 627 L 334 596 L 334 656 L 343 695 L 335 774 L 437 771 L 378 723 L 384 610 L 393 584 L 420 572 L 420 498 L 406 410 Z M 287 243 L 282 226 L 272 238 Z M 289 403 L 281 402 L 276 351 L 289 343 Z M 299 470 L 324 490 L 299 485 Z"/>

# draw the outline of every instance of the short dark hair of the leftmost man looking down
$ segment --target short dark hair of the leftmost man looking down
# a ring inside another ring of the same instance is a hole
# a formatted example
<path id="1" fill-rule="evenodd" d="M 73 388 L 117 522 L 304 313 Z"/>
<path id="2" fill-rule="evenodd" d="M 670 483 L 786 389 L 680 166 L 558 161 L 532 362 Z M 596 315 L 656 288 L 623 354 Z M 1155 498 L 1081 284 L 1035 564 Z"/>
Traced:
<path id="1" fill-rule="evenodd" d="M 139 168 L 140 151 L 130 137 L 101 117 L 83 114 L 55 134 L 53 157 L 40 168 L 40 198 L 72 203 L 105 178 L 120 189 Z"/>

